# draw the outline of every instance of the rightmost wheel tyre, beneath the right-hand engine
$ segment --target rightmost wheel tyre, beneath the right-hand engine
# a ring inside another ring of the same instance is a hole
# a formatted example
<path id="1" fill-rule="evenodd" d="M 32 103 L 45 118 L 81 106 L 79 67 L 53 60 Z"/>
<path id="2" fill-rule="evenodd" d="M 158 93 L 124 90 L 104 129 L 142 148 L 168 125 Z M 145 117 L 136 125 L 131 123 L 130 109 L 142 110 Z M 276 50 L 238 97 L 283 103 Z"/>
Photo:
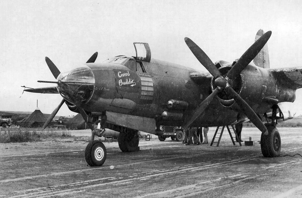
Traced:
<path id="1" fill-rule="evenodd" d="M 281 138 L 277 128 L 268 126 L 268 135 L 261 134 L 261 152 L 264 157 L 278 157 L 281 152 Z"/>

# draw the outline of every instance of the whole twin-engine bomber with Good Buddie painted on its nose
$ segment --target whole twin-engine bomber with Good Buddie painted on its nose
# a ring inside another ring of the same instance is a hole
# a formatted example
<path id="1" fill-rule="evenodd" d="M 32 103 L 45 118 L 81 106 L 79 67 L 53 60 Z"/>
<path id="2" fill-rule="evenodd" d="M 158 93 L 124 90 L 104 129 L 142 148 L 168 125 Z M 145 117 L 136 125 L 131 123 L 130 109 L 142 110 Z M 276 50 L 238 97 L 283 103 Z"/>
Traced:
<path id="1" fill-rule="evenodd" d="M 46 126 L 65 103 L 82 115 L 92 129 L 92 141 L 85 149 L 90 166 L 106 160 L 104 144 L 94 140 L 97 124 L 106 115 L 106 128 L 119 131 L 123 152 L 137 151 L 138 131 L 162 135 L 164 126 L 206 127 L 241 124 L 250 120 L 261 131 L 264 157 L 277 157 L 281 139 L 278 119 L 292 118 L 284 102 L 294 102 L 302 87 L 302 68 L 270 69 L 267 41 L 271 31 L 259 30 L 256 41 L 233 63 L 213 63 L 191 39 L 191 52 L 208 70 L 151 58 L 147 43 L 134 43 L 135 57 L 117 56 L 94 63 L 98 53 L 77 69 L 61 73 L 46 57 L 56 86 L 27 88 L 34 93 L 59 93 L 63 99 L 48 118 Z M 250 64 L 253 60 L 254 64 Z M 262 120 L 265 119 L 265 123 Z"/>

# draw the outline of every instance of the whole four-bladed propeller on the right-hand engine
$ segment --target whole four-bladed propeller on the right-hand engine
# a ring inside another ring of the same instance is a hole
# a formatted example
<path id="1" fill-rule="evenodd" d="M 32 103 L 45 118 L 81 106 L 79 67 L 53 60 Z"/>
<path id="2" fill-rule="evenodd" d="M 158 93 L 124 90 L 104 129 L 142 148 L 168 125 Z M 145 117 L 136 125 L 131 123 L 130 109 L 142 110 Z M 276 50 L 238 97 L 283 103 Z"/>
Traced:
<path id="1" fill-rule="evenodd" d="M 239 96 L 238 93 L 232 88 L 231 84 L 233 80 L 240 75 L 242 70 L 246 68 L 246 66 L 256 57 L 256 55 L 260 52 L 260 50 L 264 47 L 266 42 L 271 36 L 271 31 L 266 32 L 262 35 L 254 44 L 249 47 L 248 50 L 238 59 L 238 61 L 234 64 L 234 66 L 228 71 L 226 77 L 223 77 L 214 63 L 210 60 L 207 54 L 201 50 L 198 45 L 196 45 L 191 39 L 185 38 L 185 42 L 188 45 L 189 49 L 192 51 L 194 56 L 198 59 L 198 61 L 212 74 L 215 81 L 214 84 L 217 86 L 216 89 L 206 98 L 204 99 L 198 107 L 194 110 L 193 114 L 186 120 L 183 125 L 184 128 L 187 128 L 191 125 L 198 116 L 200 116 L 210 102 L 217 96 L 218 93 L 225 90 L 226 93 L 231 96 L 236 103 L 239 105 L 243 113 L 250 119 L 250 121 L 262 132 L 267 133 L 267 128 L 262 123 L 261 119 L 254 112 L 254 110 Z"/>

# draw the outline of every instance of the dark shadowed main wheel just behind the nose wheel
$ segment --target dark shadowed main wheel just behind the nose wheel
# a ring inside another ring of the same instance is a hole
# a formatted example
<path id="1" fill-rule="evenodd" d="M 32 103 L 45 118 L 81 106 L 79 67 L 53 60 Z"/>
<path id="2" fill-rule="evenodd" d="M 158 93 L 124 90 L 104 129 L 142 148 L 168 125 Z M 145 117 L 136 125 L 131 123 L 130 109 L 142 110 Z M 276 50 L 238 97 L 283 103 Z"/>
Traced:
<path id="1" fill-rule="evenodd" d="M 118 146 L 123 152 L 137 151 L 139 144 L 139 135 L 137 130 L 127 129 L 124 133 L 120 132 L 118 138 Z"/>

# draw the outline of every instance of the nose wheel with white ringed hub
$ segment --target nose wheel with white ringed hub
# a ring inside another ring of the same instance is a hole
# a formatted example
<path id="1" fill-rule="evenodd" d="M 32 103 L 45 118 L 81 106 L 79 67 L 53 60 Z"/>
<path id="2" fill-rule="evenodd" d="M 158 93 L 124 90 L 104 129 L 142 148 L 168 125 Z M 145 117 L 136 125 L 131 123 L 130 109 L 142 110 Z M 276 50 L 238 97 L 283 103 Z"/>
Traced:
<path id="1" fill-rule="evenodd" d="M 101 166 L 107 157 L 107 150 L 104 144 L 99 141 L 91 141 L 85 149 L 85 160 L 89 166 Z"/>

